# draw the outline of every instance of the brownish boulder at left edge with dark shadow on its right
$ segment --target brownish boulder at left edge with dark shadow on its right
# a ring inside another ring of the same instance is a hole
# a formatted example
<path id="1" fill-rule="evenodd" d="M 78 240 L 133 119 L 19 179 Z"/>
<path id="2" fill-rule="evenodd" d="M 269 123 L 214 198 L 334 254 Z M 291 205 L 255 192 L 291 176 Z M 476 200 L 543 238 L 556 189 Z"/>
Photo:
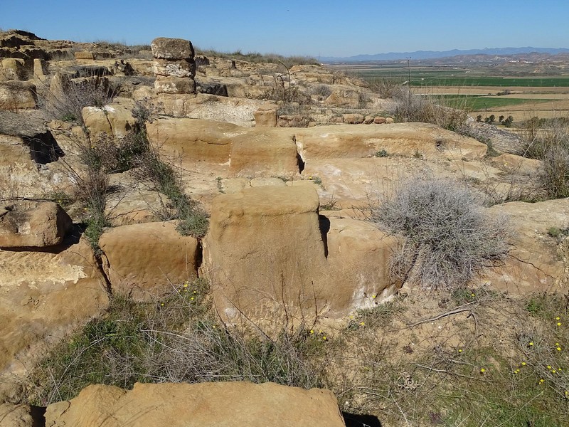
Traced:
<path id="1" fill-rule="evenodd" d="M 0 248 L 56 246 L 73 221 L 51 201 L 0 206 Z"/>

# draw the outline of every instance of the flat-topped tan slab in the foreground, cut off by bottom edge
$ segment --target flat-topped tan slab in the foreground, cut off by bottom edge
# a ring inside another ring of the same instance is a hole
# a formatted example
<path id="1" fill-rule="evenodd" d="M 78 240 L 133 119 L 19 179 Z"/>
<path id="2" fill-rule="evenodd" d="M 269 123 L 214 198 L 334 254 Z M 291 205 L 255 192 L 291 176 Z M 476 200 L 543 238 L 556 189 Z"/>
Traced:
<path id="1" fill-rule="evenodd" d="M 344 427 L 344 420 L 331 391 L 236 381 L 87 386 L 48 406 L 46 426 Z"/>

